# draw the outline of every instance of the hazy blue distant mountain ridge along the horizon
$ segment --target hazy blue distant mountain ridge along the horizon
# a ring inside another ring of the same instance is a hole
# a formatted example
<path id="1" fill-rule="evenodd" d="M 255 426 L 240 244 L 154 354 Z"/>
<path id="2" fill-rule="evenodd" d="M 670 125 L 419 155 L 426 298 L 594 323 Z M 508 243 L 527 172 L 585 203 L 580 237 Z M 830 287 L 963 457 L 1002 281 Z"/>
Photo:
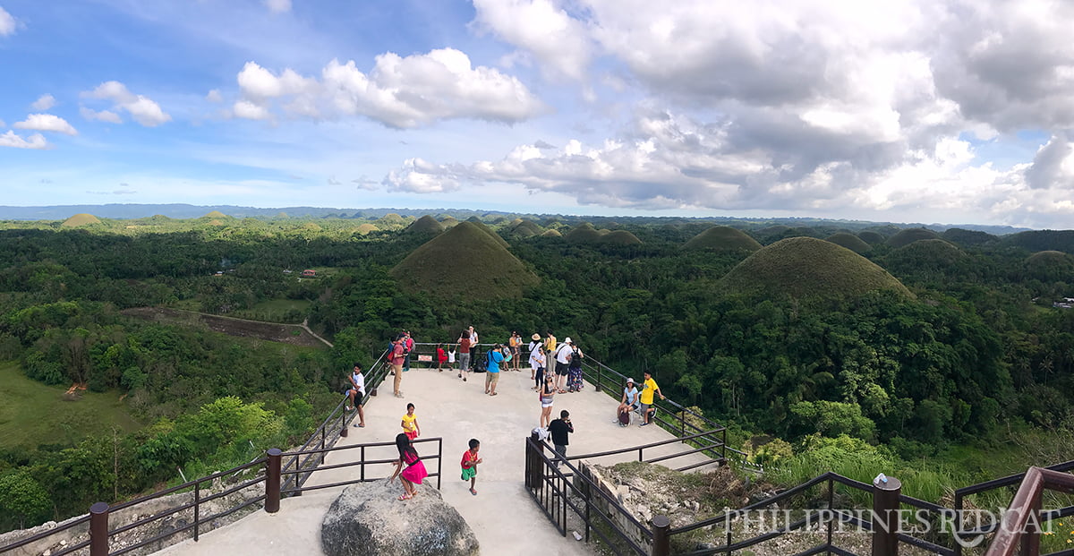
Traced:
<path id="1" fill-rule="evenodd" d="M 395 213 L 403 217 L 420 218 L 432 215 L 437 219 L 451 216 L 459 220 L 466 220 L 470 217 L 529 217 L 533 219 L 556 218 L 565 221 L 589 220 L 610 220 L 610 217 L 592 216 L 566 216 L 532 213 L 506 213 L 499 210 L 474 210 L 465 208 L 334 208 L 316 206 L 287 206 L 274 208 L 258 208 L 252 206 L 237 205 L 189 205 L 185 203 L 171 204 L 119 204 L 106 205 L 49 205 L 49 206 L 8 206 L 0 205 L 0 220 L 67 220 L 76 214 L 89 214 L 98 218 L 133 219 L 147 218 L 155 215 L 162 215 L 170 218 L 201 218 L 207 213 L 218 210 L 235 218 L 276 218 L 280 213 L 286 213 L 290 218 L 382 218 L 386 215 Z M 619 223 L 629 223 L 633 221 L 667 221 L 667 222 L 713 222 L 713 223 L 739 223 L 750 225 L 789 225 L 808 226 L 811 223 L 823 223 L 827 225 L 844 225 L 848 229 L 861 229 L 876 224 L 892 224 L 899 228 L 928 228 L 935 232 L 944 232 L 952 228 L 962 230 L 973 230 L 987 232 L 993 235 L 1006 235 L 1018 232 L 1026 232 L 1030 228 L 1015 228 L 1010 225 L 985 225 L 985 224 L 924 224 L 920 222 L 873 222 L 867 220 L 845 220 L 825 218 L 738 218 L 738 217 L 629 217 L 616 216 Z"/>

